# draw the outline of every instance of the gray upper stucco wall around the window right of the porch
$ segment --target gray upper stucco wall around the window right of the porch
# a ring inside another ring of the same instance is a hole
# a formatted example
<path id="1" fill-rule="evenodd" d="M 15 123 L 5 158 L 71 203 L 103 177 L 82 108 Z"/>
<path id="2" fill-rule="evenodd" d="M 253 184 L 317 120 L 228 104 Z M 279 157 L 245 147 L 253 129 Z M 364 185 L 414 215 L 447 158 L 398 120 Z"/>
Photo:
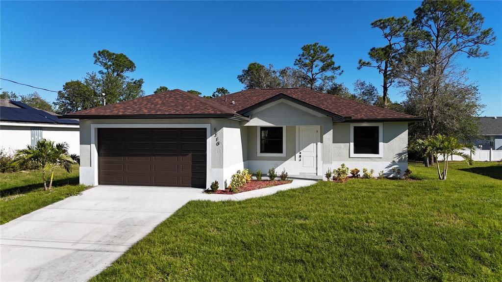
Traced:
<path id="1" fill-rule="evenodd" d="M 383 122 L 383 157 L 350 158 L 350 123 L 333 123 L 333 161 L 408 162 L 408 122 Z"/>

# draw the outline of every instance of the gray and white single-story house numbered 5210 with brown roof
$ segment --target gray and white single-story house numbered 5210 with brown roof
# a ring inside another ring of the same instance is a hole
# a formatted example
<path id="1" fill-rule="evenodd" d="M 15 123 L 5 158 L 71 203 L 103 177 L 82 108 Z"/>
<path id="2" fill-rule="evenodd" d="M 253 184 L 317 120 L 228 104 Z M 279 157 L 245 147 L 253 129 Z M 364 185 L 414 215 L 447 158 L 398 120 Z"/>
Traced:
<path id="1" fill-rule="evenodd" d="M 80 182 L 220 188 L 237 170 L 322 179 L 349 168 L 408 167 L 419 117 L 305 88 L 205 99 L 175 89 L 67 114 L 80 119 Z"/>

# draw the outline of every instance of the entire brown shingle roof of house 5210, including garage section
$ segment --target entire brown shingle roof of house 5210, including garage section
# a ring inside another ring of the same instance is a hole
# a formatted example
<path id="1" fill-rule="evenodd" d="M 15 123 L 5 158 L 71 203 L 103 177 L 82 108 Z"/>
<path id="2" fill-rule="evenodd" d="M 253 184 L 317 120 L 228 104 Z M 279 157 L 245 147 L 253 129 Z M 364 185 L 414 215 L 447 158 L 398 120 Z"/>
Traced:
<path id="1" fill-rule="evenodd" d="M 292 98 L 319 110 L 340 117 L 340 120 L 419 119 L 350 99 L 306 88 L 247 89 L 223 97 L 206 99 L 180 89 L 72 112 L 65 117 L 234 117 L 246 119 L 246 109 L 274 97 Z M 226 101 L 225 101 L 226 99 Z M 232 103 L 233 101 L 233 103 Z"/>

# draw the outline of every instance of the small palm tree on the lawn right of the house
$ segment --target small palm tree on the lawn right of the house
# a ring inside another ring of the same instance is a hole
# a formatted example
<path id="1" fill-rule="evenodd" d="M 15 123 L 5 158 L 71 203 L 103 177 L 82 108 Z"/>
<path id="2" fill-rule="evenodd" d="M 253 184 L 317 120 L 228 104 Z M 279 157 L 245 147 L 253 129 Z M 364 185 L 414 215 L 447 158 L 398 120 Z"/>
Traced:
<path id="1" fill-rule="evenodd" d="M 448 175 L 448 159 L 451 156 L 459 156 L 464 159 L 470 166 L 474 163 L 470 155 L 467 155 L 460 150 L 467 148 L 470 150 L 471 155 L 475 154 L 474 147 L 472 145 L 462 144 L 458 142 L 458 139 L 451 136 L 445 136 L 437 134 L 434 136 L 429 136 L 425 139 L 418 139 L 415 144 L 417 151 L 421 152 L 424 157 L 434 155 L 436 158 L 439 156 L 443 157 L 443 171 L 439 168 L 439 161 L 436 162 L 438 169 L 438 177 L 440 180 L 446 180 Z"/>

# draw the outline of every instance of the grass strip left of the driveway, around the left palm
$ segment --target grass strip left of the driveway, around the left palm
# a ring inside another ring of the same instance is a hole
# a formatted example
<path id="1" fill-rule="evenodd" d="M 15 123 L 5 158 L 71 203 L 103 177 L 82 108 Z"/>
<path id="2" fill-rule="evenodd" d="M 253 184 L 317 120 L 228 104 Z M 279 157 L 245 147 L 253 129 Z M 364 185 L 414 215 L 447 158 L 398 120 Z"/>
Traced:
<path id="1" fill-rule="evenodd" d="M 0 223 L 4 224 L 64 198 L 78 195 L 86 189 L 86 186 L 78 184 L 78 166 L 74 166 L 70 174 L 57 168 L 52 184 L 52 190 L 44 191 L 42 172 L 39 170 L 1 173 Z"/>

